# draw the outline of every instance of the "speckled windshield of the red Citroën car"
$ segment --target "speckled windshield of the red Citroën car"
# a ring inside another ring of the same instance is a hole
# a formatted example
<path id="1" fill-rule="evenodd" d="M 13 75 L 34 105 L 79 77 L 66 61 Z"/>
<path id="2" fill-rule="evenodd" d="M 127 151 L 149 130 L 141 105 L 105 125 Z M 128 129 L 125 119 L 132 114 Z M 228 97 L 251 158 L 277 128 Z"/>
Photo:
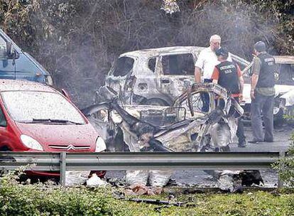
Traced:
<path id="1" fill-rule="evenodd" d="M 44 124 L 85 124 L 82 115 L 64 97 L 54 92 L 1 92 L 14 121 Z"/>

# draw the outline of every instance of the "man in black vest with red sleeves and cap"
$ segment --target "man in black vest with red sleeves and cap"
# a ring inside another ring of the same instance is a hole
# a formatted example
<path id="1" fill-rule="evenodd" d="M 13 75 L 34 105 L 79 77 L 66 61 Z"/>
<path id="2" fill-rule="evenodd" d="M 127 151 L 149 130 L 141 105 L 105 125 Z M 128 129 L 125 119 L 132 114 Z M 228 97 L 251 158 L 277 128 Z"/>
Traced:
<path id="1" fill-rule="evenodd" d="M 227 60 L 229 56 L 229 51 L 227 49 L 219 48 L 215 54 L 220 63 L 214 67 L 214 71 L 212 72 L 212 82 L 224 87 L 227 92 L 232 94 L 232 97 L 234 97 L 236 102 L 239 102 L 239 100 L 243 99 L 242 93 L 244 87 L 243 75 L 240 68 L 236 63 Z M 241 118 L 238 119 L 236 136 L 238 136 L 238 146 L 245 147 L 246 136 L 244 136 L 244 125 Z"/>

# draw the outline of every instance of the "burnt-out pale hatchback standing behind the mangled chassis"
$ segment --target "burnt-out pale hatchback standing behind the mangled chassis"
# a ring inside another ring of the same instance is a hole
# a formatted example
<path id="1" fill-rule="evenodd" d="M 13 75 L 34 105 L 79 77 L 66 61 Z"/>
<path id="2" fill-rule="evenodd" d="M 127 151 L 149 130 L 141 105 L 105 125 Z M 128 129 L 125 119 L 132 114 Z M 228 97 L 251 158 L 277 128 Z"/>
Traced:
<path id="1" fill-rule="evenodd" d="M 120 95 L 124 104 L 172 106 L 194 83 L 195 63 L 204 47 L 173 46 L 123 53 L 114 61 L 105 85 Z M 250 63 L 230 57 L 241 68 Z M 100 90 L 95 102 L 103 102 Z"/>

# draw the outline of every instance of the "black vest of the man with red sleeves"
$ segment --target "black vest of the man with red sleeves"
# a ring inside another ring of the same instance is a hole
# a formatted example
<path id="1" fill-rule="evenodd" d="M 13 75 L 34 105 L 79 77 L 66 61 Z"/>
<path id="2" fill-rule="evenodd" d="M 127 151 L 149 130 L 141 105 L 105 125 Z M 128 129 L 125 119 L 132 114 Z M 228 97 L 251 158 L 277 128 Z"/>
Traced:
<path id="1" fill-rule="evenodd" d="M 217 66 L 219 70 L 219 80 L 217 83 L 224 87 L 232 94 L 239 94 L 239 78 L 237 72 L 237 65 L 229 61 L 219 63 Z"/>

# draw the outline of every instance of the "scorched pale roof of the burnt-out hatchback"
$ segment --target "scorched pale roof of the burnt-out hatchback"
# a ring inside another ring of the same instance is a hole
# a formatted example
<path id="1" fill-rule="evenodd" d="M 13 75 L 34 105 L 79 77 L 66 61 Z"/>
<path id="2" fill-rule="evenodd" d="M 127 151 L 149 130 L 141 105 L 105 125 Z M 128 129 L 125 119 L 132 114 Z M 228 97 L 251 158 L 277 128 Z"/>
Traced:
<path id="1" fill-rule="evenodd" d="M 135 50 L 135 51 L 123 53 L 120 55 L 120 57 L 145 56 L 147 58 L 151 58 L 151 57 L 156 57 L 158 55 L 172 54 L 172 53 L 178 54 L 178 53 L 187 53 L 187 52 L 200 52 L 204 48 L 205 47 L 200 47 L 200 46 L 171 46 L 171 47 L 164 47 L 164 48 L 151 48 L 151 49 Z"/>

